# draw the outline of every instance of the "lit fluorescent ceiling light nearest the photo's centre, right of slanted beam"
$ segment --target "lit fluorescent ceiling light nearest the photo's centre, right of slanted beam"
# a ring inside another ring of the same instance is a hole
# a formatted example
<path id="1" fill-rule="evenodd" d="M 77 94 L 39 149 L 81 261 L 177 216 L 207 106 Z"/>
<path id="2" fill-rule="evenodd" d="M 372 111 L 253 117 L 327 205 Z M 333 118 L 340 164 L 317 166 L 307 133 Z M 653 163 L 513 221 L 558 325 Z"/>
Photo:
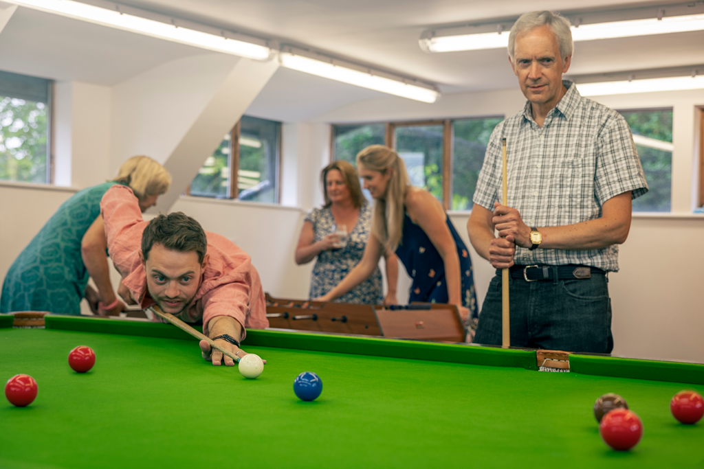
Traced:
<path id="1" fill-rule="evenodd" d="M 403 98 L 415 99 L 416 101 L 422 101 L 424 103 L 434 103 L 439 96 L 438 91 L 434 89 L 381 77 L 379 75 L 372 75 L 367 72 L 360 72 L 333 63 L 298 56 L 294 53 L 282 52 L 279 54 L 279 60 L 281 60 L 281 65 L 286 68 L 310 73 L 311 75 L 318 75 L 319 77 L 334 79 L 338 82 L 362 86 L 363 88 L 382 91 L 383 93 L 394 94 Z"/>

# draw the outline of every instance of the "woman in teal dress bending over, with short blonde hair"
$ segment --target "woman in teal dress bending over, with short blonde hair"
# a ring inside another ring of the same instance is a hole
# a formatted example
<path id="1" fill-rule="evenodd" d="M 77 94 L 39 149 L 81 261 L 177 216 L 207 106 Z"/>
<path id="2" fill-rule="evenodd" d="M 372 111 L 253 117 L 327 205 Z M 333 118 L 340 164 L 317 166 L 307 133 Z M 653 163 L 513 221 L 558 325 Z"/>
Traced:
<path id="1" fill-rule="evenodd" d="M 114 184 L 130 186 L 142 212 L 168 191 L 171 176 L 158 162 L 135 156 L 113 181 L 77 192 L 58 208 L 8 270 L 0 313 L 49 311 L 80 314 L 86 298 L 98 314 L 125 309 L 113 290 L 106 255 L 100 201 Z M 88 285 L 92 277 L 98 291 Z"/>

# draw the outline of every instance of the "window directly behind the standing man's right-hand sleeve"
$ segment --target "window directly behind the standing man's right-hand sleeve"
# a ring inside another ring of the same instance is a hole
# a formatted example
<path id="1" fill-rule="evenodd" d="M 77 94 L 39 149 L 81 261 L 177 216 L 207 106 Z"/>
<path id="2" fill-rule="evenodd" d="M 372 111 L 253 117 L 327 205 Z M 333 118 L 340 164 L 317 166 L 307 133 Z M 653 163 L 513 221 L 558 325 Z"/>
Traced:
<path id="1" fill-rule="evenodd" d="M 672 109 L 620 111 L 631 127 L 648 188 L 634 212 L 670 212 L 672 203 Z"/>

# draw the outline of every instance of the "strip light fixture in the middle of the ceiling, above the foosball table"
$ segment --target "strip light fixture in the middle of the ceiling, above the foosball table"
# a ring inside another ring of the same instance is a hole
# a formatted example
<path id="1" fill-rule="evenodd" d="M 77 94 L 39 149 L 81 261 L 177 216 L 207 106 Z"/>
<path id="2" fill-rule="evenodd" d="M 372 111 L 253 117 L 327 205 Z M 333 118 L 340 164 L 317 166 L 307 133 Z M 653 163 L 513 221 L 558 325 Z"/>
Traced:
<path id="1" fill-rule="evenodd" d="M 424 103 L 434 103 L 440 95 L 439 91 L 429 84 L 394 77 L 384 72 L 370 70 L 351 63 L 343 63 L 314 53 L 297 51 L 291 47 L 282 48 L 279 53 L 279 60 L 285 68 Z"/>

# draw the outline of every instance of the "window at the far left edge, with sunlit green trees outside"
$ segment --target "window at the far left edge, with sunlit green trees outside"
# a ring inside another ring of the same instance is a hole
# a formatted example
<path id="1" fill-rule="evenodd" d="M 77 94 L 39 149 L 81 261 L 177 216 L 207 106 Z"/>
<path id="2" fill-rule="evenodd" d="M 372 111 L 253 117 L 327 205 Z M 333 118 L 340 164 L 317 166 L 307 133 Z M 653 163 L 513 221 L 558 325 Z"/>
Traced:
<path id="1" fill-rule="evenodd" d="M 51 80 L 0 72 L 0 180 L 51 182 Z"/>

